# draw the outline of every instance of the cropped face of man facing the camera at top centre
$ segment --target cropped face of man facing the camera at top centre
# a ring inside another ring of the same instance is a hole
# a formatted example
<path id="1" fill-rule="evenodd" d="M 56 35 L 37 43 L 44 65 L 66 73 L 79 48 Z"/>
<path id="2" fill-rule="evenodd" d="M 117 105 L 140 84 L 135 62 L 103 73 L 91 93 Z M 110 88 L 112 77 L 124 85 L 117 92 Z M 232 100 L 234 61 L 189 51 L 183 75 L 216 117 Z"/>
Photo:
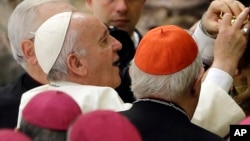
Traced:
<path id="1" fill-rule="evenodd" d="M 87 0 L 93 14 L 107 25 L 132 34 L 145 0 Z"/>

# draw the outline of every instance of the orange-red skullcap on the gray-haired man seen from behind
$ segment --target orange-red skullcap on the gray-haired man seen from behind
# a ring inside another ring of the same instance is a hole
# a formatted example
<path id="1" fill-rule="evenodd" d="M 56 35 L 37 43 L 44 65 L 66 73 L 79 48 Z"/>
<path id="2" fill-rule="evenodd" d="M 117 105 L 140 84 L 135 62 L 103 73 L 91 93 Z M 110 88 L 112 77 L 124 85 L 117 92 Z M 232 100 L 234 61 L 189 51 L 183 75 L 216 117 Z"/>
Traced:
<path id="1" fill-rule="evenodd" d="M 146 33 L 135 54 L 135 64 L 142 71 L 153 75 L 178 72 L 196 59 L 198 46 L 184 29 L 165 25 Z"/>

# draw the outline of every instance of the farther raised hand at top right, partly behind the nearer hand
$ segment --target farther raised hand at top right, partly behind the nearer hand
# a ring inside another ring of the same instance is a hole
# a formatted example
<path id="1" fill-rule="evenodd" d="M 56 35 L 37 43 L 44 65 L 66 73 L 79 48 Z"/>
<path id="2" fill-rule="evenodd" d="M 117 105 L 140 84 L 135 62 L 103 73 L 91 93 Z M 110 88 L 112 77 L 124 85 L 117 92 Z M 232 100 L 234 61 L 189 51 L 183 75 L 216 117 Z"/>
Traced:
<path id="1" fill-rule="evenodd" d="M 217 35 L 220 15 L 230 13 L 237 17 L 244 8 L 245 6 L 236 0 L 214 0 L 202 17 L 202 26 L 209 34 Z"/>

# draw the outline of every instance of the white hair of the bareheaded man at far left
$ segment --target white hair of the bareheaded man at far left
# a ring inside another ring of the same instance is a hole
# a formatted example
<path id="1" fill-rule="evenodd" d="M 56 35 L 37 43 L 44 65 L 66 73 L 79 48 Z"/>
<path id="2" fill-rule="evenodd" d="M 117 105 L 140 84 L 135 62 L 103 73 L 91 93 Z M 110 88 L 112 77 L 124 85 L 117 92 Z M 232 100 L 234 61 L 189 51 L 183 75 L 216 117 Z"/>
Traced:
<path id="1" fill-rule="evenodd" d="M 58 1 L 60 0 L 24 0 L 12 12 L 8 22 L 8 37 L 13 57 L 24 69 L 26 60 L 20 45 L 22 40 L 34 38 L 32 32 L 41 25 L 37 8 L 43 3 Z"/>

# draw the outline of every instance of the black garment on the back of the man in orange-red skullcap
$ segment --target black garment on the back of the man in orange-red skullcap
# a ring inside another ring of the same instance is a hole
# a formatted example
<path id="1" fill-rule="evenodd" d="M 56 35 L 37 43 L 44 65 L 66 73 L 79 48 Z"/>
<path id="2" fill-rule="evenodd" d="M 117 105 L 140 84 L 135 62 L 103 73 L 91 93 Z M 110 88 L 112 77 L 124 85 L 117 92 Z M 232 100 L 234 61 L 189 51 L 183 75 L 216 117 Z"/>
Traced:
<path id="1" fill-rule="evenodd" d="M 179 106 L 154 99 L 137 100 L 120 112 L 138 128 L 143 141 L 223 141 L 190 122 Z"/>

